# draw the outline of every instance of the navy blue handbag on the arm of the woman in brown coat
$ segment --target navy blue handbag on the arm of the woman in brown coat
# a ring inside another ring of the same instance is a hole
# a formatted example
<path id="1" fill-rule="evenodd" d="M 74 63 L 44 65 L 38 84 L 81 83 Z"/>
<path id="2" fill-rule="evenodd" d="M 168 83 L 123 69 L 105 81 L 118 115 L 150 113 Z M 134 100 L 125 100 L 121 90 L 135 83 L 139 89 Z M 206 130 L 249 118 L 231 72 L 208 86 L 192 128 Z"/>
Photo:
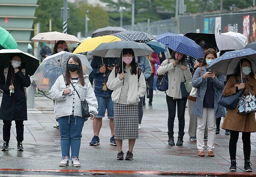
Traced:
<path id="1" fill-rule="evenodd" d="M 238 80 L 236 78 L 236 83 L 238 83 Z M 241 93 L 243 92 L 243 90 L 239 90 L 238 93 L 234 94 L 234 95 L 230 95 L 230 96 L 223 96 L 223 94 L 221 94 L 220 98 L 218 99 L 218 104 L 227 108 L 227 109 L 235 109 L 236 105 L 239 101 L 239 96 L 241 95 Z M 223 91 L 222 91 L 223 93 Z"/>

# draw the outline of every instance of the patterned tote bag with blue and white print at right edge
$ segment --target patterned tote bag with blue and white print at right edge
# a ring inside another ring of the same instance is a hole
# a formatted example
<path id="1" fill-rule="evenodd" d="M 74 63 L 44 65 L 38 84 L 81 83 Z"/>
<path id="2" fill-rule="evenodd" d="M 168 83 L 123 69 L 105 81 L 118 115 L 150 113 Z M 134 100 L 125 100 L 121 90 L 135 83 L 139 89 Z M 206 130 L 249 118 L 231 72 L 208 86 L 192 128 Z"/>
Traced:
<path id="1" fill-rule="evenodd" d="M 256 112 L 256 98 L 254 95 L 250 93 L 249 89 L 248 89 L 248 92 L 250 95 L 239 97 L 239 102 L 238 102 L 239 114 Z"/>

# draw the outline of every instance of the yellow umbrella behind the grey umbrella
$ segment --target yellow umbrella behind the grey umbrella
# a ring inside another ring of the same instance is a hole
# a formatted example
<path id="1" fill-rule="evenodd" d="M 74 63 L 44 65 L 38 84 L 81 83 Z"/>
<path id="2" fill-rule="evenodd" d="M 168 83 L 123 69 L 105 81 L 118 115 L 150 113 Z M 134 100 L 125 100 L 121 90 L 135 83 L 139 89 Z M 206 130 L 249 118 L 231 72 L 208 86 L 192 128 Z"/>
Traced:
<path id="1" fill-rule="evenodd" d="M 93 37 L 81 42 L 81 44 L 76 48 L 76 50 L 73 53 L 93 51 L 96 47 L 98 47 L 102 43 L 115 42 L 115 41 L 122 41 L 122 40 L 119 39 L 118 37 L 111 36 L 111 35 Z"/>

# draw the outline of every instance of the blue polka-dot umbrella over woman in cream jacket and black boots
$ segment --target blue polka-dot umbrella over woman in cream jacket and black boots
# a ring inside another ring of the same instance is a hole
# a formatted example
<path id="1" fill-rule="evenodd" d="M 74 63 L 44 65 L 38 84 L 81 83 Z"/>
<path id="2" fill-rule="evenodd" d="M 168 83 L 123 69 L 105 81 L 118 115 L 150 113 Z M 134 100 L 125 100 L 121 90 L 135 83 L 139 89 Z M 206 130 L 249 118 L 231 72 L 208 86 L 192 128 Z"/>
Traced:
<path id="1" fill-rule="evenodd" d="M 157 41 L 166 45 L 173 51 L 192 56 L 196 59 L 201 59 L 204 57 L 204 51 L 201 46 L 197 45 L 195 41 L 186 36 L 166 32 L 157 35 Z"/>

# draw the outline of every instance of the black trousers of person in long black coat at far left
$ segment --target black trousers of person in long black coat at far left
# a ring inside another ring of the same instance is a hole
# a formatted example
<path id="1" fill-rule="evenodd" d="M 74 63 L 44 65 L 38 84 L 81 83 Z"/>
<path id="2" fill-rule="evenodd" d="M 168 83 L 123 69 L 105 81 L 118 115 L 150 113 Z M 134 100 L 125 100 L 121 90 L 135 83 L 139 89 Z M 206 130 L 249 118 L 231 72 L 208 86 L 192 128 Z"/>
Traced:
<path id="1" fill-rule="evenodd" d="M 17 134 L 17 141 L 22 142 L 23 141 L 23 135 L 24 135 L 24 125 L 23 121 L 15 121 L 15 127 L 16 127 L 16 134 Z M 11 137 L 11 126 L 12 121 L 6 121 L 3 120 L 3 140 L 6 141 L 6 143 L 9 143 L 10 137 Z"/>

